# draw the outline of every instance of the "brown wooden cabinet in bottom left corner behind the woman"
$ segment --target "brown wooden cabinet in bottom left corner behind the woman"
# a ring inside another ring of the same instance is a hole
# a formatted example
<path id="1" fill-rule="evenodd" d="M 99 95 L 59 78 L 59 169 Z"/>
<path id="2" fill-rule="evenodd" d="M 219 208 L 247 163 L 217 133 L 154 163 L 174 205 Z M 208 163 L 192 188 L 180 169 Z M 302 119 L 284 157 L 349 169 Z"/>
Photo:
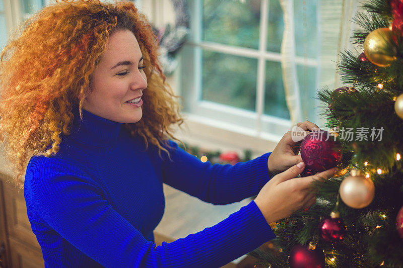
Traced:
<path id="1" fill-rule="evenodd" d="M 44 267 L 41 247 L 28 220 L 24 192 L 11 179 L 0 173 L 0 267 Z"/>

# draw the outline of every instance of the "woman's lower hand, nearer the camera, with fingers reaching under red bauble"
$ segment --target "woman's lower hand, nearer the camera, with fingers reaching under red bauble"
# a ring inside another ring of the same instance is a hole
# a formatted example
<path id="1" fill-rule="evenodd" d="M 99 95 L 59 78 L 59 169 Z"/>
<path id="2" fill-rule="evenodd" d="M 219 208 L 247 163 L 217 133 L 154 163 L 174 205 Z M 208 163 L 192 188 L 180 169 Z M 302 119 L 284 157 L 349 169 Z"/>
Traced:
<path id="1" fill-rule="evenodd" d="M 300 162 L 268 181 L 254 202 L 260 209 L 267 223 L 288 217 L 297 210 L 308 208 L 316 203 L 316 195 L 311 183 L 315 180 L 327 180 L 337 168 L 331 168 L 312 176 L 298 177 L 305 164 Z"/>

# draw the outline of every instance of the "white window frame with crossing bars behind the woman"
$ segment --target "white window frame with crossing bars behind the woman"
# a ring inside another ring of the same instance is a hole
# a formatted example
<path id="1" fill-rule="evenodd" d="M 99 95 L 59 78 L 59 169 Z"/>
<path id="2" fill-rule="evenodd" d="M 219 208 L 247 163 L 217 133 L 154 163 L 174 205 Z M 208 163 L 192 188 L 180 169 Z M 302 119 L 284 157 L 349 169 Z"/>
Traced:
<path id="1" fill-rule="evenodd" d="M 259 144 L 276 144 L 281 137 L 291 129 L 291 120 L 275 116 L 265 115 L 264 91 L 266 79 L 266 61 L 281 62 L 281 53 L 266 51 L 268 7 L 270 0 L 261 0 L 260 23 L 259 23 L 259 46 L 258 49 L 242 48 L 208 42 L 201 40 L 203 0 L 188 1 L 193 18 L 191 24 L 192 36 L 180 53 L 179 76 L 186 77 L 180 79 L 178 83 L 180 94 L 184 97 L 183 106 L 191 107 L 191 112 L 184 112 L 187 121 L 190 121 L 192 128 L 188 131 L 190 136 L 203 136 L 215 139 L 218 143 L 239 145 L 249 147 L 252 150 L 260 151 Z M 294 26 L 293 26 L 294 27 Z M 201 51 L 209 50 L 230 55 L 242 56 L 257 59 L 257 81 L 256 81 L 256 111 L 249 112 L 243 109 L 226 105 L 212 103 L 209 101 L 199 101 L 201 94 Z M 194 59 L 191 63 L 190 59 Z M 320 60 L 318 58 L 306 58 L 295 56 L 295 62 L 301 66 L 316 68 L 316 84 Z M 192 88 L 192 90 L 188 90 Z M 190 110 L 190 109 L 189 109 Z M 232 122 L 232 123 L 229 123 Z M 267 131 L 270 130 L 270 131 Z M 219 137 L 213 133 L 223 133 Z M 237 139 L 241 135 L 243 140 Z M 256 142 L 252 142 L 256 141 Z M 253 146 L 252 144 L 256 144 Z M 274 146 L 273 146 L 274 147 Z"/>

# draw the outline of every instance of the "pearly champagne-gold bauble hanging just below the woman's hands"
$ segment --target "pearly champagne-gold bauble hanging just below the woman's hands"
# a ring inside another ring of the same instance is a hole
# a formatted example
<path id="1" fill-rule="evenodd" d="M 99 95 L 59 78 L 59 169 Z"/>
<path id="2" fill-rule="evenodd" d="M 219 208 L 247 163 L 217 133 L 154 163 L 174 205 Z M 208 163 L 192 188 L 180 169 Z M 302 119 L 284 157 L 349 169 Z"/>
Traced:
<path id="1" fill-rule="evenodd" d="M 341 183 L 339 193 L 347 206 L 361 209 L 371 204 L 375 196 L 375 186 L 360 170 L 353 169 L 350 176 Z"/>

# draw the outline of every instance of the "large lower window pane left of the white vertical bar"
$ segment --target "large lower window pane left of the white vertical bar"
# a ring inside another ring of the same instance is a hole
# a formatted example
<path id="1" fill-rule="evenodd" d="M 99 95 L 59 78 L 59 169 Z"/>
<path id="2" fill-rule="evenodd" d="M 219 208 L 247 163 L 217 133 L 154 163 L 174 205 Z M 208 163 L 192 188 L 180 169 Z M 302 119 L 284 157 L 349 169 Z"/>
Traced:
<path id="1" fill-rule="evenodd" d="M 257 59 L 203 51 L 201 99 L 255 111 Z"/>

